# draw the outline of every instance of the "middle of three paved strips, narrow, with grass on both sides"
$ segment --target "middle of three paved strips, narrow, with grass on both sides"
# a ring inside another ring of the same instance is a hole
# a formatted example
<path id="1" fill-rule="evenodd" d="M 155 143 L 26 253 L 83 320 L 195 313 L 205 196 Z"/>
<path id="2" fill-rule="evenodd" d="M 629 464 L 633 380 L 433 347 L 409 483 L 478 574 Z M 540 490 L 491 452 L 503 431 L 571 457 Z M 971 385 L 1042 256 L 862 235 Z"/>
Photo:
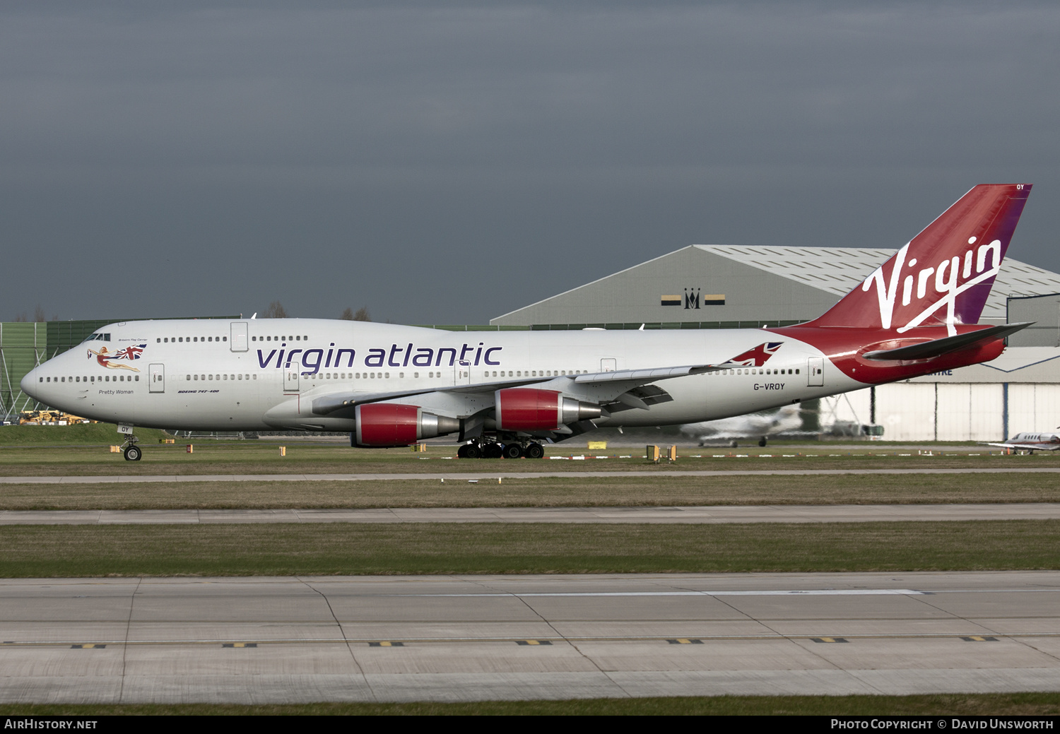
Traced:
<path id="1" fill-rule="evenodd" d="M 379 507 L 372 509 L 58 509 L 0 511 L 0 525 L 213 524 L 226 522 L 904 522 L 1055 520 L 1060 503 L 791 504 L 661 507 Z"/>

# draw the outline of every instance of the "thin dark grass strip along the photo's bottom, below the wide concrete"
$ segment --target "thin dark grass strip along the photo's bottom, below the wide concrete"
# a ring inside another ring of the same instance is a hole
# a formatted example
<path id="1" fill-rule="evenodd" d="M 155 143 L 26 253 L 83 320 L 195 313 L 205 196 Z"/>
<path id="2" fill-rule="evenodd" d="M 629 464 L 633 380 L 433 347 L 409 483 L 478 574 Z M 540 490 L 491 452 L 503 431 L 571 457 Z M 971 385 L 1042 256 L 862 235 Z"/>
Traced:
<path id="1" fill-rule="evenodd" d="M 689 696 L 469 703 L 0 705 L 0 716 L 1056 716 L 1060 694 Z"/>

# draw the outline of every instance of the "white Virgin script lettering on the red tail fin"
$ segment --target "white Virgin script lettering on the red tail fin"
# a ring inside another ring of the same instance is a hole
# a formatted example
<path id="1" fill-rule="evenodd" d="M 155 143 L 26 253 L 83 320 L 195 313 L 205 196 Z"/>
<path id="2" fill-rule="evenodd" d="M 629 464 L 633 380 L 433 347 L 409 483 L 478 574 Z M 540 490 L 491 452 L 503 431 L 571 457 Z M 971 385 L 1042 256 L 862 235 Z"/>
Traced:
<path id="1" fill-rule="evenodd" d="M 969 245 L 975 245 L 975 241 L 976 237 L 968 238 Z M 895 315 L 895 299 L 898 296 L 899 282 L 901 282 L 903 306 L 908 306 L 912 303 L 914 287 L 916 287 L 918 302 L 924 298 L 936 300 L 932 301 L 926 308 L 909 319 L 904 326 L 900 326 L 898 328 L 899 334 L 914 326 L 919 326 L 929 316 L 943 306 L 946 307 L 943 321 L 948 326 L 948 330 L 951 336 L 956 334 L 954 324 L 957 323 L 957 297 L 969 288 L 979 283 L 985 283 L 997 274 L 997 271 L 1001 269 L 1002 258 L 1001 240 L 994 239 L 988 245 L 980 245 L 978 248 L 969 248 L 962 258 L 954 255 L 949 259 L 936 263 L 934 266 L 912 271 L 911 274 L 902 278 L 903 267 L 912 269 L 918 264 L 917 258 L 913 257 L 906 265 L 905 256 L 908 253 L 908 249 L 909 246 L 906 245 L 898 251 L 893 261 L 888 261 L 894 263 L 889 282 L 884 281 L 883 266 L 880 266 L 862 284 L 862 290 L 865 291 L 869 290 L 876 284 L 876 296 L 880 304 L 880 323 L 883 325 L 883 328 L 890 328 Z M 972 270 L 973 259 L 974 276 Z M 987 267 L 988 264 L 989 267 Z M 932 276 L 933 273 L 934 278 Z M 932 288 L 933 292 L 929 294 L 928 290 L 931 286 L 934 286 Z"/>

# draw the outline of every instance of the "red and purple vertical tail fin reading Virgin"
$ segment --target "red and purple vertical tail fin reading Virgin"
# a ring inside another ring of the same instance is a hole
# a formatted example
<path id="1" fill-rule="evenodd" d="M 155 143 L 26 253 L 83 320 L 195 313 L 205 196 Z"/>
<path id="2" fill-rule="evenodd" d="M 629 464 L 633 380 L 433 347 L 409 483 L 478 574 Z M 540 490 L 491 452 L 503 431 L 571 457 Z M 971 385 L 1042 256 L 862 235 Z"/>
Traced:
<path id="1" fill-rule="evenodd" d="M 946 210 L 847 293 L 814 326 L 899 333 L 978 321 L 1030 194 L 1029 183 L 984 183 Z"/>

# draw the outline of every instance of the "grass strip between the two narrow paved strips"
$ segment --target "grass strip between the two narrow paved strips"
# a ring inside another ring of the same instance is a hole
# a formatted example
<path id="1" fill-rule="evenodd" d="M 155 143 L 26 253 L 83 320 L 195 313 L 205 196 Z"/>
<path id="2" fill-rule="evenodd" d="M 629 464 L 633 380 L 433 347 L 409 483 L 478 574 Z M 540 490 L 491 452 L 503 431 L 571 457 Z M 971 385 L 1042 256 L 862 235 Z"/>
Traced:
<path id="1" fill-rule="evenodd" d="M 0 484 L 0 509 L 1060 502 L 1060 473 Z"/>

